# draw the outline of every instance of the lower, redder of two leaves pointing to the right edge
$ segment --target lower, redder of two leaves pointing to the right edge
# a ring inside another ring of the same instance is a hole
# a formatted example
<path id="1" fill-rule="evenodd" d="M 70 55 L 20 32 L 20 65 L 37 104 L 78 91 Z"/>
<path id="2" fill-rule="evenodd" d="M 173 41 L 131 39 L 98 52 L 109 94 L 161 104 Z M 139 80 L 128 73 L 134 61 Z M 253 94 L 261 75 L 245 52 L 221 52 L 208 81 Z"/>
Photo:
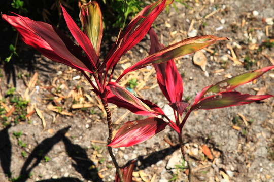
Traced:
<path id="1" fill-rule="evenodd" d="M 190 110 L 194 109 L 218 109 L 230 106 L 238 106 L 249 104 L 273 97 L 272 95 L 253 96 L 249 94 L 241 94 L 239 92 L 223 92 L 218 95 L 210 96 L 200 100 L 197 104 L 193 104 Z"/>

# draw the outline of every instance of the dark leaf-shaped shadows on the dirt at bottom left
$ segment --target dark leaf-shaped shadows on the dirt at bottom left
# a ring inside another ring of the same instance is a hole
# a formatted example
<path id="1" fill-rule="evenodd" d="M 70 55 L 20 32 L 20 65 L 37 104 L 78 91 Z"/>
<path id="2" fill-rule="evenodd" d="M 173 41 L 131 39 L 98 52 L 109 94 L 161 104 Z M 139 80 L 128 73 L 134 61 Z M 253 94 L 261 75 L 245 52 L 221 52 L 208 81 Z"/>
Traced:
<path id="1" fill-rule="evenodd" d="M 1 167 L 7 177 L 11 177 L 10 167 L 11 167 L 11 141 L 9 138 L 8 130 L 11 125 L 0 131 L 0 160 Z M 65 145 L 65 150 L 68 157 L 72 158 L 74 161 L 72 165 L 75 170 L 78 171 L 83 178 L 89 181 L 102 181 L 98 175 L 98 171 L 95 167 L 94 162 L 88 158 L 88 155 L 81 146 L 73 144 L 70 139 L 65 136 L 65 133 L 70 129 L 70 126 L 65 127 L 57 131 L 52 137 L 43 140 L 38 144 L 35 149 L 30 153 L 24 165 L 21 168 L 20 175 L 16 179 L 18 182 L 24 182 L 28 180 L 31 175 L 33 168 L 38 166 L 40 162 L 45 159 L 45 156 L 50 152 L 52 147 L 58 142 L 62 141 Z M 45 179 L 41 180 L 43 182 L 50 181 L 81 181 L 78 178 L 73 177 L 61 177 L 59 179 Z"/>

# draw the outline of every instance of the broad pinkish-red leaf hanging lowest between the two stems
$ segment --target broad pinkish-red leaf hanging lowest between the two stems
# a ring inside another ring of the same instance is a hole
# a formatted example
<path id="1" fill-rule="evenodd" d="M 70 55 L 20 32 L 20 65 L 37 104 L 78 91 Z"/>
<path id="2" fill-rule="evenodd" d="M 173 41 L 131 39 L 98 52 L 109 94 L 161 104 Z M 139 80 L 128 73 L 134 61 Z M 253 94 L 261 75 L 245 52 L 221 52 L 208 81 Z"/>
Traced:
<path id="1" fill-rule="evenodd" d="M 162 131 L 167 124 L 156 117 L 126 122 L 108 146 L 117 148 L 140 144 Z"/>

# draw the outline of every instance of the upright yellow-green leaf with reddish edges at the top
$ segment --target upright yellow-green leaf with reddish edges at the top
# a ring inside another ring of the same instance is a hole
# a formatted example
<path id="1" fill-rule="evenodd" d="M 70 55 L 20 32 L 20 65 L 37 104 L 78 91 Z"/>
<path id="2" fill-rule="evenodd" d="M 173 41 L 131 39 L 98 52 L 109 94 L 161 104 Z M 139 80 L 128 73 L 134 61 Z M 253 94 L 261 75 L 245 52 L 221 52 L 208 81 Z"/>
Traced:
<path id="1" fill-rule="evenodd" d="M 96 1 L 90 1 L 88 4 L 82 5 L 79 16 L 84 31 L 99 56 L 103 32 L 102 13 L 99 4 Z"/>

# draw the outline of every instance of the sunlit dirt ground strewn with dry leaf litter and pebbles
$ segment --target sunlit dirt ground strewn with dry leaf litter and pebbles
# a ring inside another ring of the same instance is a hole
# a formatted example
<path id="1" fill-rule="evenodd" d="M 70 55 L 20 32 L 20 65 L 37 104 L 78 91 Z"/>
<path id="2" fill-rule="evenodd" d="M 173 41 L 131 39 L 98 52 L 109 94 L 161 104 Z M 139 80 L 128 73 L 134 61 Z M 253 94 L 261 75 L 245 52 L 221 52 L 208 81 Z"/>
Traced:
<path id="1" fill-rule="evenodd" d="M 191 8 L 175 2 L 179 13 L 169 7 L 168 14 L 163 11 L 154 22 L 164 45 L 205 34 L 230 39 L 202 51 L 207 61 L 204 70 L 193 63 L 193 55 L 176 60 L 186 101 L 193 103 L 205 86 L 274 64 L 274 45 L 269 42 L 274 38 L 273 0 L 186 4 Z M 105 113 L 88 82 L 76 70 L 54 63 L 21 41 L 18 47 L 17 63 L 5 63 L 1 52 L 0 181 L 114 181 Z M 118 72 L 147 56 L 149 48 L 146 36 L 122 57 Z M 126 86 L 132 78 L 138 80 L 136 94 L 170 111 L 151 66 L 128 74 L 121 84 Z M 256 84 L 236 90 L 274 95 L 274 70 Z M 113 105 L 110 108 L 115 130 L 141 118 Z M 274 99 L 194 112 L 184 127 L 183 141 L 194 181 L 274 181 Z M 136 160 L 134 181 L 187 181 L 178 143 L 176 132 L 166 127 L 144 143 L 113 150 L 121 166 Z M 202 153 L 203 145 L 211 150 L 212 160 Z"/>

